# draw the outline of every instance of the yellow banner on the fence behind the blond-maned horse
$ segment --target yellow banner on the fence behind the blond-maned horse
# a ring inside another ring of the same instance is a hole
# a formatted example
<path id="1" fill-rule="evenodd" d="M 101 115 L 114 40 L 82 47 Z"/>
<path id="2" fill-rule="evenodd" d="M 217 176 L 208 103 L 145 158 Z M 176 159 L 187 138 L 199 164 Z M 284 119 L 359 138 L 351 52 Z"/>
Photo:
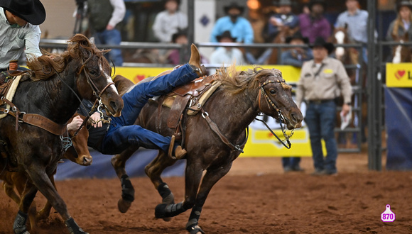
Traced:
<path id="1" fill-rule="evenodd" d="M 281 70 L 283 79 L 288 82 L 288 84 L 296 83 L 300 77 L 300 69 L 292 66 L 286 65 L 273 65 L 273 66 L 261 66 L 264 69 L 276 68 Z M 239 66 L 239 70 L 244 70 L 247 68 L 253 68 L 252 66 Z M 122 76 L 130 79 L 132 82 L 136 83 L 147 77 L 154 77 L 157 74 L 164 72 L 168 69 L 173 69 L 173 67 L 116 67 L 116 74 L 121 74 Z M 303 107 L 304 108 L 304 107 Z M 304 109 L 302 110 L 304 111 Z M 278 135 L 282 140 L 284 139 L 283 133 L 281 132 L 279 123 L 273 118 L 269 118 L 267 121 L 269 126 L 273 129 L 274 133 Z M 288 130 L 287 134 L 291 131 Z M 269 130 L 266 129 L 263 123 L 259 121 L 253 121 L 249 126 L 249 138 L 244 147 L 244 153 L 241 157 L 287 157 L 287 156 L 297 156 L 297 157 L 310 157 L 312 151 L 310 150 L 310 140 L 308 128 L 300 128 L 294 131 L 293 136 L 290 139 L 292 143 L 291 149 L 286 149 L 278 140 L 273 136 Z"/>

